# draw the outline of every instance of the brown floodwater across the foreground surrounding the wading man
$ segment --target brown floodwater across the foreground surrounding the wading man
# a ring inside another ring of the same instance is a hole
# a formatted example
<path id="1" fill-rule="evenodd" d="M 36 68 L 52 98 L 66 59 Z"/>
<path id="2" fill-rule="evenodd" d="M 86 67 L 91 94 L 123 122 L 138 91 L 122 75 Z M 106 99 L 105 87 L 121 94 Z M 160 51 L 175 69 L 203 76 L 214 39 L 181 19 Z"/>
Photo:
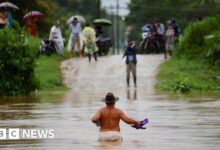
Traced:
<path id="1" fill-rule="evenodd" d="M 54 129 L 55 139 L 0 141 L 0 148 L 219 149 L 219 100 L 170 101 L 166 97 L 145 96 L 142 92 L 131 88 L 116 91 L 115 95 L 120 97 L 117 107 L 128 115 L 135 119 L 149 118 L 147 129 L 135 130 L 121 123 L 124 141 L 104 144 L 97 142 L 98 129 L 90 122 L 95 111 L 104 106 L 100 102 L 103 93 L 71 91 L 66 95 L 30 98 L 28 102 L 17 99 L 12 103 L 1 99 L 0 128 Z"/>

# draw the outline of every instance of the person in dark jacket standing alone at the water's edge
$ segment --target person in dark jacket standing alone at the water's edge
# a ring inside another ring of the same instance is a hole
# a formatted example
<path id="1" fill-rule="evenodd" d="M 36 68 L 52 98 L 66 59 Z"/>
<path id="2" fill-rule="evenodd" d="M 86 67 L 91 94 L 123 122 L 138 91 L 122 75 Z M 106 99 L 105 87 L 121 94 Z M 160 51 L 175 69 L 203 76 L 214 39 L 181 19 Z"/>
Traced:
<path id="1" fill-rule="evenodd" d="M 136 76 L 136 64 L 137 64 L 137 57 L 136 57 L 136 46 L 134 41 L 128 39 L 128 46 L 125 50 L 125 53 L 122 58 L 126 56 L 126 80 L 127 86 L 130 86 L 130 72 L 132 72 L 133 79 L 134 79 L 134 86 L 137 86 L 137 76 Z"/>

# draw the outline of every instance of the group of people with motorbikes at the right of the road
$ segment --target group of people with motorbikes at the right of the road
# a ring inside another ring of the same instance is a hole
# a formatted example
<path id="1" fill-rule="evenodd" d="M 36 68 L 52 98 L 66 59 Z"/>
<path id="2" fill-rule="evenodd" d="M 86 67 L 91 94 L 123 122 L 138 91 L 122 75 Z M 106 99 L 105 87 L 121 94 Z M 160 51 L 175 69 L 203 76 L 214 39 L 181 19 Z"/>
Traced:
<path id="1" fill-rule="evenodd" d="M 142 28 L 141 46 L 144 50 L 148 50 L 150 44 L 152 44 L 156 52 L 164 52 L 165 58 L 168 54 L 171 54 L 175 43 L 178 43 L 180 38 L 180 29 L 176 24 L 176 20 L 173 18 L 168 20 L 166 26 L 159 20 L 154 19 L 151 24 L 147 24 Z"/>

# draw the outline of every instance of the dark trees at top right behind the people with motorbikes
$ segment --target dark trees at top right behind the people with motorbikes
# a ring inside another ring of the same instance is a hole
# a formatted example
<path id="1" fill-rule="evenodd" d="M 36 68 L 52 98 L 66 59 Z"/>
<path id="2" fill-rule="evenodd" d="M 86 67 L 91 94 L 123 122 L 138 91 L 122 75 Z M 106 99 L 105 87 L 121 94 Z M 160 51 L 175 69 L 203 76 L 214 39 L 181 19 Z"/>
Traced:
<path id="1" fill-rule="evenodd" d="M 162 23 L 176 18 L 183 30 L 198 18 L 220 12 L 219 0 L 131 0 L 127 22 L 134 28 L 132 34 L 140 38 L 141 27 L 157 18 Z"/>

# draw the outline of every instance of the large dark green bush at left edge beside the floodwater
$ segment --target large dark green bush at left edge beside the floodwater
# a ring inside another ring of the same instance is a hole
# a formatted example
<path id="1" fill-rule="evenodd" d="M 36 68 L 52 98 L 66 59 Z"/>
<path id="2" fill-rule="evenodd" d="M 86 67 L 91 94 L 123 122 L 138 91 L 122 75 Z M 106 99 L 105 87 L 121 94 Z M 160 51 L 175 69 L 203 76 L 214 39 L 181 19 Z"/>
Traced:
<path id="1" fill-rule="evenodd" d="M 5 28 L 0 31 L 0 95 L 23 95 L 39 87 L 35 57 L 25 34 Z"/>

